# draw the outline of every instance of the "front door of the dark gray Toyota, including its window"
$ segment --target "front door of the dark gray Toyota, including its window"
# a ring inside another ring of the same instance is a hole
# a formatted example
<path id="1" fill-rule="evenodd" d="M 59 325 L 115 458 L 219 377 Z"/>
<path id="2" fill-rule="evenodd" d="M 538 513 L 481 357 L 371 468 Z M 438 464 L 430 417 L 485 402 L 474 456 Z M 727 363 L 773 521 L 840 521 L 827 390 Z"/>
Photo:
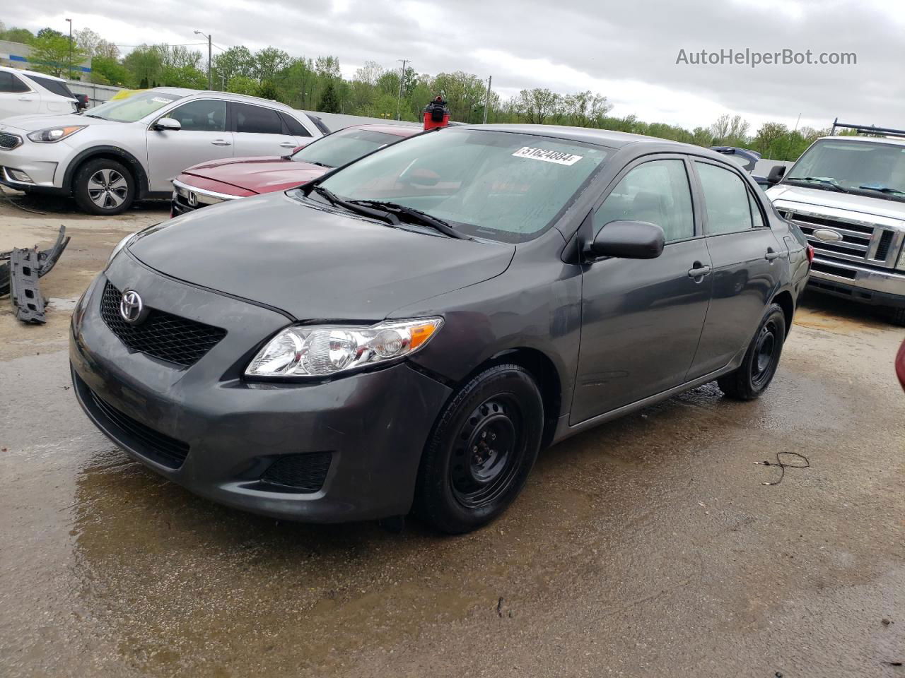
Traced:
<path id="1" fill-rule="evenodd" d="M 631 166 L 594 220 L 595 229 L 655 223 L 666 245 L 657 259 L 586 265 L 573 425 L 685 381 L 710 303 L 710 256 L 682 156 Z"/>

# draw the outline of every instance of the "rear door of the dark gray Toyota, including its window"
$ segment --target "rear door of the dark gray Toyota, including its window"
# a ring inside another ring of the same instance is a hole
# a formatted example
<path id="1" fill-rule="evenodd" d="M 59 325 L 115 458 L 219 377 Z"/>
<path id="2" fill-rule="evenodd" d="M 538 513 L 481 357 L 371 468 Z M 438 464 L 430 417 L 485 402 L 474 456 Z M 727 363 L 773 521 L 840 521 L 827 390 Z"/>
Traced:
<path id="1" fill-rule="evenodd" d="M 763 205 L 734 167 L 696 159 L 713 298 L 689 379 L 719 370 L 750 343 L 776 292 L 788 251 L 770 230 Z"/>

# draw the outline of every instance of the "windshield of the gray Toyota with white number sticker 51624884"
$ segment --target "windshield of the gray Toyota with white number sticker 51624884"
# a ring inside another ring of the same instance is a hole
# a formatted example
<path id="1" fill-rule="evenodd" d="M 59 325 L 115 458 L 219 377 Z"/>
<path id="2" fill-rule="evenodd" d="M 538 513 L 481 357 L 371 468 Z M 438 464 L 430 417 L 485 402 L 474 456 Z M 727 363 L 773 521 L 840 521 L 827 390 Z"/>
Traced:
<path id="1" fill-rule="evenodd" d="M 320 185 L 347 201 L 395 202 L 480 238 L 538 237 L 607 155 L 576 141 L 475 128 L 405 139 Z"/>

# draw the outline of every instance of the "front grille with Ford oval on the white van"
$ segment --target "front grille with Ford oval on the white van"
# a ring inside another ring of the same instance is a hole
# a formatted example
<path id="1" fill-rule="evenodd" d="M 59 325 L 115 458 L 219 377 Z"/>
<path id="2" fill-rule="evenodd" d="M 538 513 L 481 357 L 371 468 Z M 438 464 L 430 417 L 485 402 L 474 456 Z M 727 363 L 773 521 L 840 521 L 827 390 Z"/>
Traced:
<path id="1" fill-rule="evenodd" d="M 795 223 L 814 246 L 817 254 L 837 261 L 881 262 L 883 268 L 892 268 L 895 257 L 891 248 L 896 237 L 895 231 L 880 226 L 844 221 L 806 212 L 786 212 L 786 219 Z M 814 231 L 821 228 L 832 229 L 842 236 L 842 240 L 825 242 L 814 237 Z M 872 245 L 875 249 L 872 251 Z M 889 259 L 889 260 L 888 260 Z"/>

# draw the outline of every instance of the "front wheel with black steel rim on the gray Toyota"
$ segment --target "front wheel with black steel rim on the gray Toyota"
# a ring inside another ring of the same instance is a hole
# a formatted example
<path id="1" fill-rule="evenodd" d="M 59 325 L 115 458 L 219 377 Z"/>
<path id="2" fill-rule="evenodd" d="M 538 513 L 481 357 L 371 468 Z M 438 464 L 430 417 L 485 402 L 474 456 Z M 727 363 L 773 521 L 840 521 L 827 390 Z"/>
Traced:
<path id="1" fill-rule="evenodd" d="M 478 374 L 433 427 L 418 469 L 415 515 L 450 534 L 490 523 L 525 485 L 543 422 L 543 399 L 529 372 L 505 364 Z M 500 443 L 505 449 L 491 447 Z"/>

